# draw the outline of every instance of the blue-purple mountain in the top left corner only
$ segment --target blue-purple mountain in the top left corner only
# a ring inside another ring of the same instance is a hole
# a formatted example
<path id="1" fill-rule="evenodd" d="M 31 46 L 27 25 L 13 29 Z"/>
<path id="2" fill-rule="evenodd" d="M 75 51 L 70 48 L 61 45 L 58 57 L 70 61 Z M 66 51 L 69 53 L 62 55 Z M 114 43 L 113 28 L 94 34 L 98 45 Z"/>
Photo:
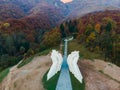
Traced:
<path id="1" fill-rule="evenodd" d="M 37 4 L 37 0 L 0 0 L 0 21 L 19 19 Z"/>

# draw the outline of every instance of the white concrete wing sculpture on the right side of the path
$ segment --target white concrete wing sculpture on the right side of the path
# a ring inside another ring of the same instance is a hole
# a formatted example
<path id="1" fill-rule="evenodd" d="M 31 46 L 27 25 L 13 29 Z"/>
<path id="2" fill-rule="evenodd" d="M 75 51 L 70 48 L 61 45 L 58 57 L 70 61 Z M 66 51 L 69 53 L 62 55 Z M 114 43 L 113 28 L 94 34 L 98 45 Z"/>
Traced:
<path id="1" fill-rule="evenodd" d="M 79 60 L 79 51 L 74 51 L 70 55 L 68 55 L 67 63 L 70 72 L 76 77 L 76 79 L 78 79 L 82 83 L 83 76 L 77 65 L 78 60 Z"/>

